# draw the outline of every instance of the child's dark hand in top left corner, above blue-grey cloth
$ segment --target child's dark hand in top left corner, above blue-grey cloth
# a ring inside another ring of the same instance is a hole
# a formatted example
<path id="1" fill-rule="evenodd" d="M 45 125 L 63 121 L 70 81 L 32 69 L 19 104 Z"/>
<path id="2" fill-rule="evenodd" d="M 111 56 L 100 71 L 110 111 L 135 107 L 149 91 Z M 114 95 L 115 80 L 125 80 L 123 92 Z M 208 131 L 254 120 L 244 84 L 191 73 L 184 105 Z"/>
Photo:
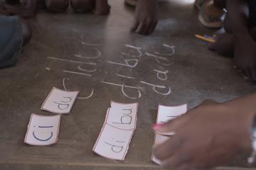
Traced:
<path id="1" fill-rule="evenodd" d="M 22 18 L 31 18 L 36 14 L 36 0 L 28 0 L 26 4 L 4 4 L 6 12 L 10 15 L 20 16 Z"/>

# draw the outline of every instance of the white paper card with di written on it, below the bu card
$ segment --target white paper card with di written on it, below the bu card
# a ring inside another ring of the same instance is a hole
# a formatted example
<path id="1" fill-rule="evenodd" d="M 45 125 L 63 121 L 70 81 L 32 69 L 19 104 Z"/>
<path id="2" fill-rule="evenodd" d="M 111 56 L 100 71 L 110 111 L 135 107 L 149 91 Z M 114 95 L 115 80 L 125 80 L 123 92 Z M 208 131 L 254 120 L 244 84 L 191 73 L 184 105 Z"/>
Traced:
<path id="1" fill-rule="evenodd" d="M 124 160 L 132 140 L 134 130 L 120 130 L 110 125 L 103 125 L 93 151 L 102 157 Z"/>

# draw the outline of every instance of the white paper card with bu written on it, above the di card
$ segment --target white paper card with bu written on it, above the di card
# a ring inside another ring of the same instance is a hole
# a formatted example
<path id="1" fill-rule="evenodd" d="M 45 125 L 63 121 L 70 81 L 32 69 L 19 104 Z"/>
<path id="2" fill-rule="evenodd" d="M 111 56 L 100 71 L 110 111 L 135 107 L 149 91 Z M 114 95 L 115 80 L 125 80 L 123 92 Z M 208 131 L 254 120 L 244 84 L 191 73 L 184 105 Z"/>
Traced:
<path id="1" fill-rule="evenodd" d="M 107 110 L 106 123 L 122 130 L 135 130 L 137 103 L 112 106 Z"/>

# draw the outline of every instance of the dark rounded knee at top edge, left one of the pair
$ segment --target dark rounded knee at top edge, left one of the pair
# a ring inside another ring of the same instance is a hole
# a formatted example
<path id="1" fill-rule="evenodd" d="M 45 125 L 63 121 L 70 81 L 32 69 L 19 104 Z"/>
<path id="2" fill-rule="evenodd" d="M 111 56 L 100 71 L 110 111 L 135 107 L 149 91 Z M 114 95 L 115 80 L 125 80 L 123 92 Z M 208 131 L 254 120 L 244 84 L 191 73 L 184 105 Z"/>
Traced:
<path id="1" fill-rule="evenodd" d="M 46 8 L 55 13 L 64 12 L 68 5 L 68 0 L 46 0 Z"/>

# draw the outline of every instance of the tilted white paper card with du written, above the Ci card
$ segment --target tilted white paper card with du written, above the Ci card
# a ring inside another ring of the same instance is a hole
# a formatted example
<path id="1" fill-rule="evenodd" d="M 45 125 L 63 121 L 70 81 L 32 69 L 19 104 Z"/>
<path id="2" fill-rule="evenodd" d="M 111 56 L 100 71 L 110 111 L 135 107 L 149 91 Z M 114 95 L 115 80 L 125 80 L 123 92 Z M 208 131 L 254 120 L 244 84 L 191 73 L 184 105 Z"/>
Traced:
<path id="1" fill-rule="evenodd" d="M 53 87 L 41 109 L 52 113 L 70 113 L 78 93 L 79 91 L 63 91 Z"/>

